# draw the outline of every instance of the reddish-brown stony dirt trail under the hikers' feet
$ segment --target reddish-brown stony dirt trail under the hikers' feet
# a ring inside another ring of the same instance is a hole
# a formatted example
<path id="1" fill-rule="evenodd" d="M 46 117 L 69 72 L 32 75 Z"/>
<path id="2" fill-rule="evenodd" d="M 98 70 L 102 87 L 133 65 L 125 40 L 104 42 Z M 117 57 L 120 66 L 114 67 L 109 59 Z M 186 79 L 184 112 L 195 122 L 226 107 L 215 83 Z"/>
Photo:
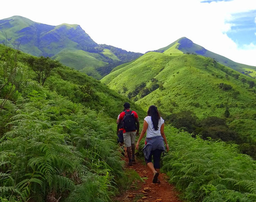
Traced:
<path id="1" fill-rule="evenodd" d="M 127 159 L 127 157 L 126 157 Z M 147 165 L 142 161 L 136 160 L 133 166 L 127 166 L 126 169 L 134 169 L 140 177 L 148 177 L 145 182 L 139 183 L 139 189 L 135 190 L 133 186 L 126 193 L 116 198 L 116 201 L 126 202 L 182 202 L 178 199 L 178 192 L 175 191 L 173 185 L 166 180 L 167 176 L 160 173 L 158 179 L 160 184 L 153 184 L 153 174 L 148 169 Z"/>

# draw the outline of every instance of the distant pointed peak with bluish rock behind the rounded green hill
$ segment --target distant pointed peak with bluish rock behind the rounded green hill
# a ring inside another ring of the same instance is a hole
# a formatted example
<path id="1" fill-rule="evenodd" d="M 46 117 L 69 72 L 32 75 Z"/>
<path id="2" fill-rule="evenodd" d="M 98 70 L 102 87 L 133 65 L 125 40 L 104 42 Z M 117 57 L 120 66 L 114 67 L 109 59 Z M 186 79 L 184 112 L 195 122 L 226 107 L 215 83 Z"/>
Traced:
<path id="1" fill-rule="evenodd" d="M 206 50 L 204 47 L 193 43 L 190 39 L 186 37 L 182 37 L 166 47 L 155 50 L 155 52 L 159 52 L 159 53 L 164 52 L 165 54 L 190 53 L 190 54 L 209 57 L 209 58 L 215 59 L 217 62 L 225 66 L 228 66 L 236 71 L 239 71 L 243 74 L 256 78 L 256 67 L 234 62 L 226 57 L 223 57 L 209 50 Z"/>

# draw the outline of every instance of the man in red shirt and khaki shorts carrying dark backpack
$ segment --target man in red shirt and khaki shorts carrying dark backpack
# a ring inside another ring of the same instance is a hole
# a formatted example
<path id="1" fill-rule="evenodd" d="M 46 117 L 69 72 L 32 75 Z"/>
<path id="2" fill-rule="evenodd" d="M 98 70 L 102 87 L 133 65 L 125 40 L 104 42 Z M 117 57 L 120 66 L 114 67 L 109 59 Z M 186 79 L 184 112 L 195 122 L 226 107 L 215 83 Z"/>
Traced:
<path id="1" fill-rule="evenodd" d="M 127 149 L 127 155 L 129 158 L 129 166 L 132 166 L 132 162 L 135 162 L 135 136 L 139 135 L 139 119 L 138 114 L 135 111 L 130 110 L 130 103 L 124 103 L 124 109 L 119 116 L 119 122 L 117 125 L 117 133 L 120 125 L 123 125 L 124 144 Z M 137 132 L 136 132 L 137 130 Z"/>

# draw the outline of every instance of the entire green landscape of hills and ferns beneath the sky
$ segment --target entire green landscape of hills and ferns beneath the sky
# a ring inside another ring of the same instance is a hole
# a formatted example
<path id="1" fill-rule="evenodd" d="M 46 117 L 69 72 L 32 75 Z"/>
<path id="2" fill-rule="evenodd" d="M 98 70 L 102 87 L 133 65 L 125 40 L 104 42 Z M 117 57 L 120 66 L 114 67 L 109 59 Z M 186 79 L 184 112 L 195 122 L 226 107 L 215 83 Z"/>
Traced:
<path id="1" fill-rule="evenodd" d="M 21 16 L 0 20 L 0 43 L 1 202 L 111 202 L 140 189 L 117 144 L 127 101 L 140 131 L 150 105 L 163 116 L 161 172 L 180 199 L 256 201 L 256 67 L 186 37 L 143 55 Z"/>

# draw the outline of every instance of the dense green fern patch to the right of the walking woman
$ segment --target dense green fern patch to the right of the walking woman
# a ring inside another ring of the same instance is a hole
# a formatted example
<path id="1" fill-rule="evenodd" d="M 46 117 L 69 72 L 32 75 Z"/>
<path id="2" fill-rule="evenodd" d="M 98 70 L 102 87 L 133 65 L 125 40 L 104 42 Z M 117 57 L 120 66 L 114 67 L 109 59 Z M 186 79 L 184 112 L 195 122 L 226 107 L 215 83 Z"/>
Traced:
<path id="1" fill-rule="evenodd" d="M 256 161 L 240 154 L 238 145 L 191 138 L 165 127 L 170 151 L 162 171 L 187 201 L 255 202 Z"/>

